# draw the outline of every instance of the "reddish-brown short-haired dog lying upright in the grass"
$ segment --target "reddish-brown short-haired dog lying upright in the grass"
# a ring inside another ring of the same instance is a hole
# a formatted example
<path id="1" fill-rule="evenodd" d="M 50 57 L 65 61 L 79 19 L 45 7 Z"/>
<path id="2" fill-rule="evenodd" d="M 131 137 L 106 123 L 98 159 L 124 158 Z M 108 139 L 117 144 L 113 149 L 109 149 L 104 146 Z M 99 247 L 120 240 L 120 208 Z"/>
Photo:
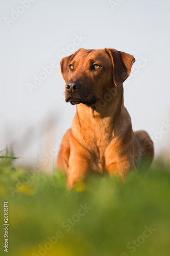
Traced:
<path id="1" fill-rule="evenodd" d="M 65 100 L 77 104 L 58 155 L 69 188 L 91 171 L 123 177 L 130 169 L 151 165 L 153 142 L 147 132 L 133 133 L 124 106 L 123 82 L 134 61 L 115 49 L 80 49 L 62 59 Z"/>

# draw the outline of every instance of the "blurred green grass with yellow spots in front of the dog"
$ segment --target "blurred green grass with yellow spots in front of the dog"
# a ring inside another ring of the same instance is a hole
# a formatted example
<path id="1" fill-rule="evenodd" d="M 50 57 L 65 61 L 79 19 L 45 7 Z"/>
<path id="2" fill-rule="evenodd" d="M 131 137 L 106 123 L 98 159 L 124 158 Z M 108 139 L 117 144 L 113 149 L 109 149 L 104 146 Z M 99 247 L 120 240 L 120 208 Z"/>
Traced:
<path id="1" fill-rule="evenodd" d="M 79 184 L 68 191 L 57 170 L 35 174 L 14 169 L 11 161 L 3 160 L 0 169 L 0 255 L 6 255 L 8 201 L 7 255 L 169 256 L 170 172 L 161 163 L 131 173 L 125 182 L 115 176 L 90 177 L 85 188 Z M 87 212 L 80 210 L 85 205 Z M 151 233 L 145 231 L 150 226 Z M 47 237 L 54 236 L 52 244 Z"/>

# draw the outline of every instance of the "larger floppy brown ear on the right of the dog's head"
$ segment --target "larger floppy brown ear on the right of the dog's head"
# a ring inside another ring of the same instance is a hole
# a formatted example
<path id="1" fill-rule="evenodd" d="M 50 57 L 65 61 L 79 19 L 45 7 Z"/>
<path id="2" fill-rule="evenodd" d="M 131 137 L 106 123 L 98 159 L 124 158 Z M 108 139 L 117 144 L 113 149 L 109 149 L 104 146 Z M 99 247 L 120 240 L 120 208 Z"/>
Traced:
<path id="1" fill-rule="evenodd" d="M 128 53 L 119 52 L 112 48 L 105 48 L 105 51 L 108 53 L 112 61 L 113 82 L 116 87 L 120 87 L 130 75 L 135 58 Z"/>

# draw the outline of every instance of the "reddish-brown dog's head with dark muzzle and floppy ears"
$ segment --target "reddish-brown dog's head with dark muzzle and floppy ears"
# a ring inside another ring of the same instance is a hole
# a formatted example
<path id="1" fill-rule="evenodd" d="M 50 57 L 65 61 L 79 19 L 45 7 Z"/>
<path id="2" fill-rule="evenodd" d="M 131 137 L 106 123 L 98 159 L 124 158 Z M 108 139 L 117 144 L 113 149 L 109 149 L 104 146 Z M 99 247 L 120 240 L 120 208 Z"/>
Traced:
<path id="1" fill-rule="evenodd" d="M 122 87 L 134 61 L 132 55 L 115 49 L 80 49 L 63 58 L 61 73 L 66 82 L 66 102 L 95 104 L 106 89 Z"/>

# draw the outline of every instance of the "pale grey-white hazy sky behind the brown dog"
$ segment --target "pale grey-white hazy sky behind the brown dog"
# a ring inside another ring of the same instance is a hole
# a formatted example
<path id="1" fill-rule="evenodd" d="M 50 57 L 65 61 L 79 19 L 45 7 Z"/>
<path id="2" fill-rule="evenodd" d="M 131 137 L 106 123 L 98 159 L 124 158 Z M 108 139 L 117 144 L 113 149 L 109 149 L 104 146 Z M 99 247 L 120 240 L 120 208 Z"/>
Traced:
<path id="1" fill-rule="evenodd" d="M 54 143 L 62 139 L 76 107 L 64 100 L 59 64 L 80 48 L 114 48 L 135 57 L 124 83 L 133 130 L 150 134 L 156 155 L 169 146 L 168 0 L 1 0 L 0 10 L 0 151 L 13 143 L 22 161 L 37 159 L 50 117 L 56 125 Z"/>

